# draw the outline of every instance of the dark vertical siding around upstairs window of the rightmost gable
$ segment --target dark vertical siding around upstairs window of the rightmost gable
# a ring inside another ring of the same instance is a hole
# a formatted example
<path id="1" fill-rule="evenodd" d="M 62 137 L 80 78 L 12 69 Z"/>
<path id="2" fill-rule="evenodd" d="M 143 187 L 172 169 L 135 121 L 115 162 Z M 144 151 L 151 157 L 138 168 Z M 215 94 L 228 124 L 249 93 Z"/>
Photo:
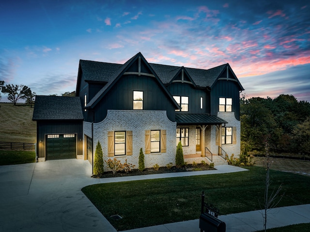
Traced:
<path id="1" fill-rule="evenodd" d="M 232 111 L 235 118 L 240 121 L 240 92 L 237 82 L 230 79 L 217 80 L 211 90 L 212 115 L 217 115 L 220 97 L 233 98 Z"/>

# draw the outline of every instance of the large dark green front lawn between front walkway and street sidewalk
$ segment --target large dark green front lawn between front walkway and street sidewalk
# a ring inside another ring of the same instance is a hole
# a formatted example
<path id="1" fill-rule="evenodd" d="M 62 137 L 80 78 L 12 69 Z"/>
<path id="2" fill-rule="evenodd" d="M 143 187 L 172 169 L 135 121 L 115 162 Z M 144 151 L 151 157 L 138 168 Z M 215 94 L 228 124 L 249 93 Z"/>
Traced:
<path id="1" fill-rule="evenodd" d="M 201 194 L 221 215 L 261 209 L 265 170 L 99 184 L 82 189 L 117 230 L 197 219 Z M 310 177 L 270 170 L 272 188 L 283 183 L 278 206 L 310 203 Z M 270 191 L 271 192 L 271 191 Z M 120 215 L 120 220 L 110 218 Z"/>

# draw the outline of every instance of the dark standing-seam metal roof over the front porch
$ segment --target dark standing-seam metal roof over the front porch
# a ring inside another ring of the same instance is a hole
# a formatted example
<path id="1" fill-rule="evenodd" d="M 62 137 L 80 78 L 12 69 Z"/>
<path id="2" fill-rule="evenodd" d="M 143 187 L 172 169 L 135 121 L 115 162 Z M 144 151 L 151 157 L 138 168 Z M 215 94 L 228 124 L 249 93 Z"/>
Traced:
<path id="1" fill-rule="evenodd" d="M 227 122 L 224 119 L 221 119 L 215 115 L 209 114 L 187 114 L 187 113 L 176 113 L 175 121 L 179 125 L 218 125 L 226 124 Z"/>

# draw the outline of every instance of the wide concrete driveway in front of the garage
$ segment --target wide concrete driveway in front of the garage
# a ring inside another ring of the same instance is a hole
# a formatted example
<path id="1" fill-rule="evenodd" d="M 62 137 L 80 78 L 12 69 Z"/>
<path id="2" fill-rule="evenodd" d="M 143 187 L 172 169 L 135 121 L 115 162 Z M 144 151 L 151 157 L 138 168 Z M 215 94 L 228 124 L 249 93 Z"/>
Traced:
<path id="1" fill-rule="evenodd" d="M 80 191 L 91 175 L 77 159 L 0 166 L 0 231 L 115 232 Z"/>

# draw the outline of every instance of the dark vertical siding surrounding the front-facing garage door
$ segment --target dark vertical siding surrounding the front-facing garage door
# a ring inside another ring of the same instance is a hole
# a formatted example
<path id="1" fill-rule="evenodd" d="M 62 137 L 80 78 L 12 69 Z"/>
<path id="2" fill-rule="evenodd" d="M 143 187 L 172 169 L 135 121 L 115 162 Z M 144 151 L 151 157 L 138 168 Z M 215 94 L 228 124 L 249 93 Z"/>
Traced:
<path id="1" fill-rule="evenodd" d="M 51 134 L 76 134 L 77 155 L 83 155 L 82 120 L 37 121 L 37 154 L 44 158 L 46 154 L 46 136 Z"/>

